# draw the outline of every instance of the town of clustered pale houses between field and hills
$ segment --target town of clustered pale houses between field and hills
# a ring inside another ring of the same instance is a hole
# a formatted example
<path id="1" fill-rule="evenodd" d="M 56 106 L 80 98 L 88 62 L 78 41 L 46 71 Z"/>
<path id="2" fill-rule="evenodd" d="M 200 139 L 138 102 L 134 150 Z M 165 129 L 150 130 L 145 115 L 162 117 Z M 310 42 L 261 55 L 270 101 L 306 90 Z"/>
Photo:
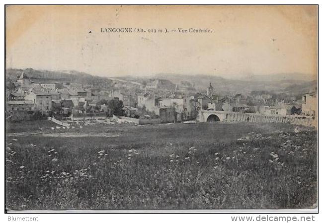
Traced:
<path id="1" fill-rule="evenodd" d="M 18 70 L 15 75 L 16 79 L 11 75 L 6 81 L 5 114 L 10 121 L 52 117 L 67 126 L 111 117 L 137 124 L 228 121 L 216 115 L 223 111 L 314 120 L 317 109 L 316 89 L 296 96 L 265 90 L 242 94 L 219 92 L 216 83 L 199 91 L 189 81 L 174 84 L 159 78 L 142 83 L 111 78 L 84 84 L 66 77 L 40 77 L 33 69 Z M 213 115 L 203 120 L 204 111 Z"/>

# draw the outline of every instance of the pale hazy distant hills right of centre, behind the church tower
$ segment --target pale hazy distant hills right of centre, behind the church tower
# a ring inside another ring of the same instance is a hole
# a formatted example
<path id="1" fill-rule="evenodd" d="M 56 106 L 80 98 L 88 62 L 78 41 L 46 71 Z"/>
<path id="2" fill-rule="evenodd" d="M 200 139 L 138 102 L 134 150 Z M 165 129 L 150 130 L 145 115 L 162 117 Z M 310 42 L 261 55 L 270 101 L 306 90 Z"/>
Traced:
<path id="1" fill-rule="evenodd" d="M 122 80 L 147 83 L 152 77 L 123 76 Z M 212 84 L 216 93 L 236 92 L 246 94 L 251 91 L 269 91 L 274 93 L 302 94 L 315 85 L 316 80 L 308 80 L 307 75 L 301 73 L 274 74 L 264 76 L 248 76 L 244 79 L 229 79 L 211 75 L 184 75 L 175 73 L 160 73 L 154 79 L 167 79 L 174 84 L 181 85 L 189 82 L 196 91 L 206 91 L 206 87 Z"/>

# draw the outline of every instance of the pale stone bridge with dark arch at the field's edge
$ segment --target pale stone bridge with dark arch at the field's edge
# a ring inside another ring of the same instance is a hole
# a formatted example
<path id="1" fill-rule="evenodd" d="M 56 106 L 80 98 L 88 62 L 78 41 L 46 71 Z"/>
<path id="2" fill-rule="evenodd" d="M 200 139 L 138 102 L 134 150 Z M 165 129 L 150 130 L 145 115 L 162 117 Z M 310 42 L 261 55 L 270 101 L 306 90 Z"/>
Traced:
<path id="1" fill-rule="evenodd" d="M 214 121 L 244 121 L 244 122 L 282 122 L 299 124 L 306 126 L 315 126 L 316 120 L 314 116 L 305 115 L 266 115 L 256 113 L 241 113 L 234 111 L 207 111 L 201 110 L 197 115 L 198 122 L 214 122 Z"/>

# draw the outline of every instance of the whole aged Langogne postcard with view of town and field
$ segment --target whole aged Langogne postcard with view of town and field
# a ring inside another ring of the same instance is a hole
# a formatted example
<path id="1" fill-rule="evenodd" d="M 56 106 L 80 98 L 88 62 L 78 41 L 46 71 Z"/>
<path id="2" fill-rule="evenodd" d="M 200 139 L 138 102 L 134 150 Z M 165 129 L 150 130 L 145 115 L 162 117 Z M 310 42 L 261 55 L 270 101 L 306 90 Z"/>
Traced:
<path id="1" fill-rule="evenodd" d="M 318 213 L 318 12 L 4 5 L 5 213 Z"/>

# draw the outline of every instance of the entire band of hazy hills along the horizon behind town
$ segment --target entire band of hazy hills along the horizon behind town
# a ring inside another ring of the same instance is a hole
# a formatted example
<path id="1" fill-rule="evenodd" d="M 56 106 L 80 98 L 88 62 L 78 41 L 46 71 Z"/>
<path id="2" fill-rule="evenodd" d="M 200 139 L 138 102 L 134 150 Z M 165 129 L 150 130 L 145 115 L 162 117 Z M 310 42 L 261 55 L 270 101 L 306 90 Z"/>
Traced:
<path id="1" fill-rule="evenodd" d="M 15 82 L 22 72 L 35 83 L 71 82 L 92 84 L 98 88 L 111 88 L 116 82 L 132 84 L 134 88 L 138 88 L 141 84 L 146 85 L 159 79 L 169 81 L 169 83 L 164 84 L 165 89 L 173 89 L 174 85 L 182 86 L 185 83 L 186 86 L 191 86 L 196 91 L 206 91 L 206 87 L 211 83 L 215 92 L 218 94 L 227 94 L 228 92 L 247 94 L 251 91 L 269 91 L 273 93 L 300 95 L 315 90 L 317 86 L 316 80 L 308 80 L 306 78 L 307 75 L 300 73 L 248 76 L 244 79 L 228 79 L 203 74 L 184 75 L 161 73 L 153 77 L 123 76 L 110 79 L 107 77 L 92 76 L 78 71 L 48 71 L 30 68 L 7 69 L 5 71 L 6 82 Z"/>

